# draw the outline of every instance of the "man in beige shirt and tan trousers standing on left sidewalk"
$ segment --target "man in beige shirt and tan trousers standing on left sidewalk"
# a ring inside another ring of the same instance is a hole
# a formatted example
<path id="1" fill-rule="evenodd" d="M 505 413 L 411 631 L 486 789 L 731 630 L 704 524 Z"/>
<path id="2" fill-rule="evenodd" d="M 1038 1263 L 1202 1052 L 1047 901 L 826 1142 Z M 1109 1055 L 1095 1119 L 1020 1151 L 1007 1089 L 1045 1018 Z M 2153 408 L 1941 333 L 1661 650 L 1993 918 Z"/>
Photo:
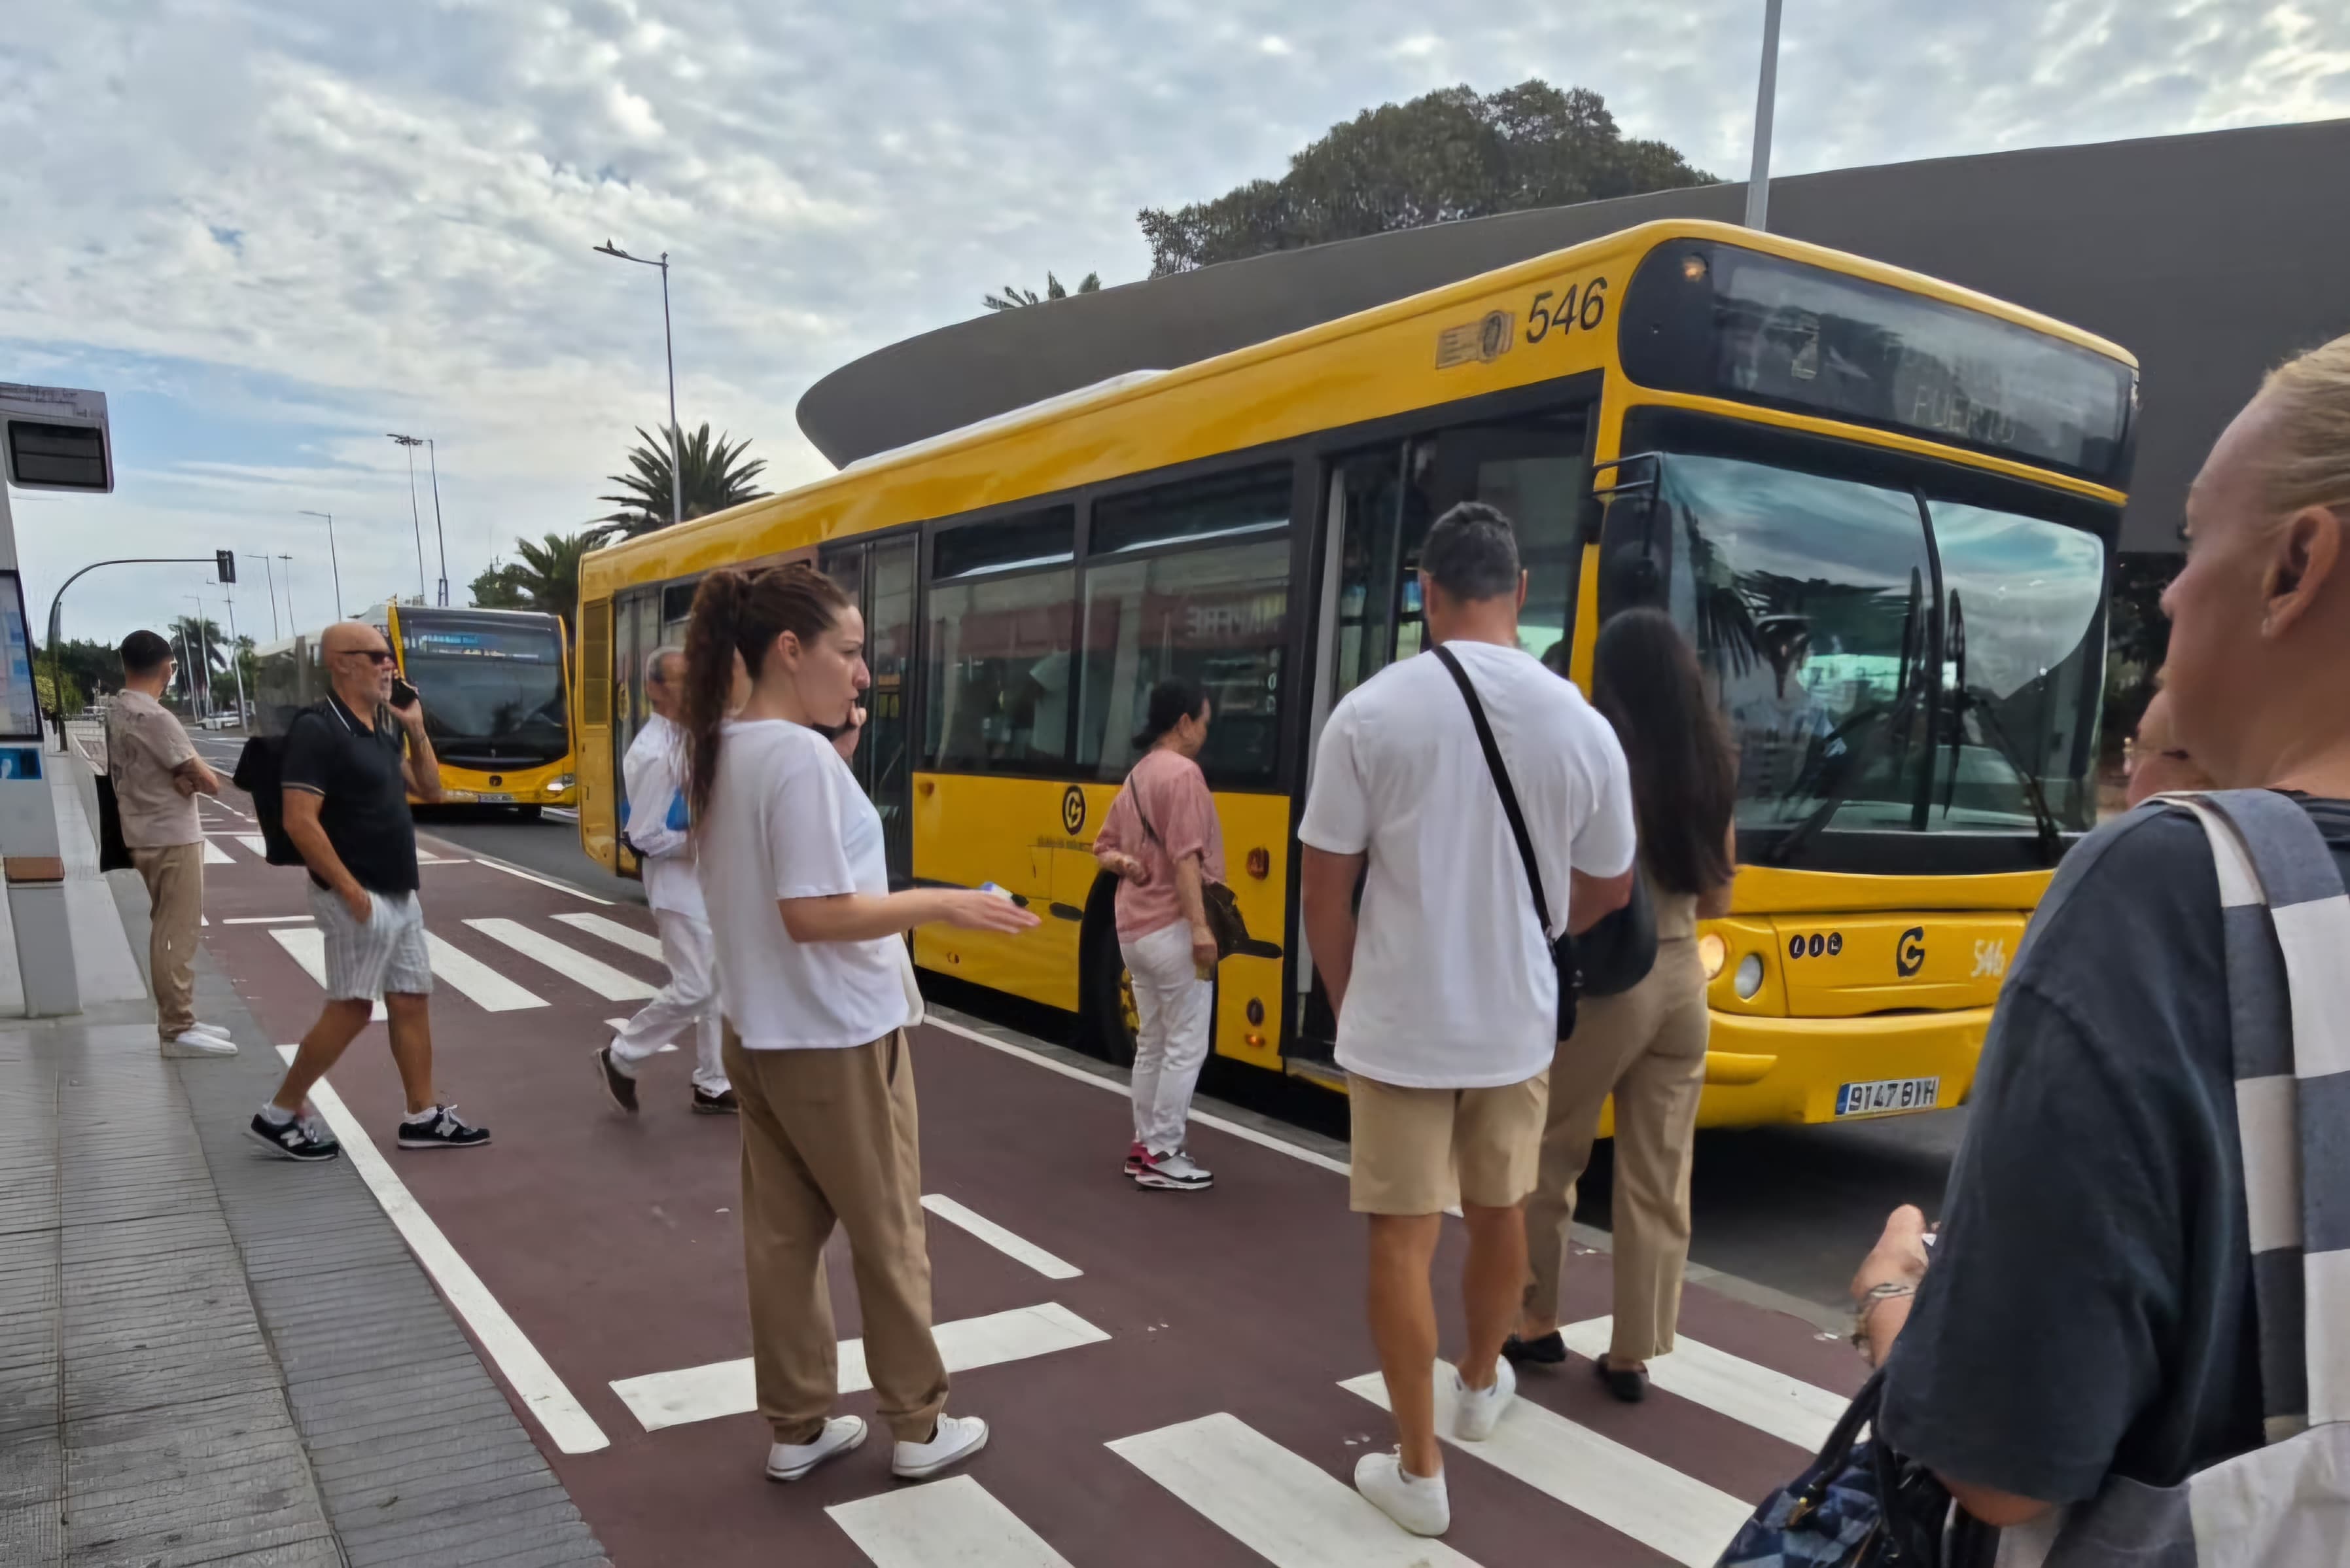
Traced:
<path id="1" fill-rule="evenodd" d="M 155 632 L 122 639 L 122 691 L 106 710 L 106 773 L 122 811 L 122 842 L 148 886 L 148 973 L 164 1056 L 235 1056 L 228 1030 L 195 1020 L 195 940 L 204 922 L 204 827 L 197 795 L 221 778 L 195 755 L 162 705 L 172 644 Z"/>

